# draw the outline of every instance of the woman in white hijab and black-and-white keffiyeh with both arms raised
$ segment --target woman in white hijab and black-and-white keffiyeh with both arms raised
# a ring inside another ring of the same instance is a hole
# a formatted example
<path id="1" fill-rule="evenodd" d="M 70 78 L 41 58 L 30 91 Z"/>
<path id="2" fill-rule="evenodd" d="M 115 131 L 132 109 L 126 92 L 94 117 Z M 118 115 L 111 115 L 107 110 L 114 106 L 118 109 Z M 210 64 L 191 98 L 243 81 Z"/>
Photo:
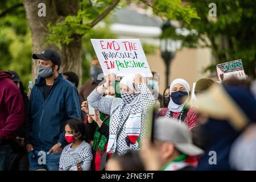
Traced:
<path id="1" fill-rule="evenodd" d="M 122 98 L 103 97 L 114 81 L 115 74 L 110 73 L 87 100 L 95 109 L 110 115 L 107 152 L 122 155 L 131 149 L 139 150 L 140 139 L 146 137 L 147 109 L 156 106 L 156 102 L 140 75 L 122 78 L 119 85 Z"/>

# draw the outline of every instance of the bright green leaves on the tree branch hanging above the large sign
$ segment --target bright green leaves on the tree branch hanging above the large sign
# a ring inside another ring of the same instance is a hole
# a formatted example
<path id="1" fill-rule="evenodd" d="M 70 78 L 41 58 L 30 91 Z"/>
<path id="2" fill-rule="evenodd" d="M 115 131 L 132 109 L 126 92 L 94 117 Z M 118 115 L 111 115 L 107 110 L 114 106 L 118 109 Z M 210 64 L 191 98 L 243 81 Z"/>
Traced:
<path id="1" fill-rule="evenodd" d="M 114 1 L 110 0 L 97 0 L 97 1 L 81 1 L 81 9 L 76 16 L 67 16 L 64 21 L 57 22 L 56 26 L 48 24 L 49 31 L 51 32 L 47 36 L 49 43 L 55 43 L 61 47 L 61 43 L 69 44 L 74 34 L 84 35 L 92 28 L 92 22 L 98 16 L 100 16 L 106 7 L 112 5 Z M 168 18 L 172 20 L 184 20 L 186 23 L 190 23 L 192 19 L 199 19 L 195 9 L 190 6 L 183 6 L 181 0 L 135 0 L 135 1 L 119 1 L 118 6 L 125 6 L 131 2 L 144 3 L 145 7 L 151 7 L 154 14 L 162 18 Z"/>

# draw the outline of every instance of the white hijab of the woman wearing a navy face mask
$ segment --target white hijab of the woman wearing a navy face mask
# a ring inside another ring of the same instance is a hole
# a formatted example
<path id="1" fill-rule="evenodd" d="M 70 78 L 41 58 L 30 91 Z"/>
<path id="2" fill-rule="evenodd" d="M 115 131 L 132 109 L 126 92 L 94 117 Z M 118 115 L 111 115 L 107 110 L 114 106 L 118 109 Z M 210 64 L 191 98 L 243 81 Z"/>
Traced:
<path id="1" fill-rule="evenodd" d="M 174 85 L 176 85 L 176 84 L 181 84 L 181 85 L 183 85 L 183 86 L 185 87 L 185 89 L 187 90 L 187 93 L 188 93 L 188 96 L 189 96 L 189 92 L 190 92 L 189 84 L 188 84 L 187 81 L 185 81 L 185 80 L 182 79 L 182 78 L 177 78 L 177 79 L 175 79 L 174 81 L 172 81 L 172 83 L 171 83 L 171 85 L 170 85 L 170 94 L 171 94 L 172 88 L 173 88 Z M 169 97 L 170 97 L 170 95 L 169 95 Z M 172 112 L 176 112 L 176 113 L 177 113 L 177 112 L 180 112 L 180 111 L 183 109 L 183 107 L 184 107 L 184 105 L 185 105 L 185 103 L 186 103 L 187 101 L 188 101 L 188 98 L 187 98 L 187 100 L 186 100 L 183 104 L 177 105 L 177 104 L 174 103 L 174 101 L 172 101 L 172 98 L 170 97 L 170 102 L 169 102 L 169 105 L 168 105 L 168 109 L 171 110 Z"/>

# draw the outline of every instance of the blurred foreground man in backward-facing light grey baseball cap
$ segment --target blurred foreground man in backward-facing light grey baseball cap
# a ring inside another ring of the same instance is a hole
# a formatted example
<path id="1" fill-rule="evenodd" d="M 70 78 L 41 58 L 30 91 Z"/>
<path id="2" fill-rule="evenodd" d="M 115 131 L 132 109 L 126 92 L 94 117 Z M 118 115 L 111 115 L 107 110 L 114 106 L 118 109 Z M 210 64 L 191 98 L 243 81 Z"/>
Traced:
<path id="1" fill-rule="evenodd" d="M 192 134 L 172 118 L 158 118 L 154 142 L 146 143 L 141 158 L 147 170 L 190 171 L 197 167 L 198 156 L 204 151 L 192 143 Z"/>

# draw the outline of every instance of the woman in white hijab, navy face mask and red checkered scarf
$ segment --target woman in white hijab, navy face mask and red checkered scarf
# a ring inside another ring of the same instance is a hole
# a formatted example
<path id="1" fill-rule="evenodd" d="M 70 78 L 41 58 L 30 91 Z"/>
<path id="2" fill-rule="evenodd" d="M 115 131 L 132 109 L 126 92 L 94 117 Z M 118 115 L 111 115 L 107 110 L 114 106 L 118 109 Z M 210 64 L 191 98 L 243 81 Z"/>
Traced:
<path id="1" fill-rule="evenodd" d="M 170 102 L 168 107 L 160 110 L 158 117 L 175 118 L 189 130 L 198 126 L 199 111 L 186 105 L 190 93 L 187 81 L 177 78 L 170 85 Z M 185 101 L 184 101 L 185 100 Z"/>

